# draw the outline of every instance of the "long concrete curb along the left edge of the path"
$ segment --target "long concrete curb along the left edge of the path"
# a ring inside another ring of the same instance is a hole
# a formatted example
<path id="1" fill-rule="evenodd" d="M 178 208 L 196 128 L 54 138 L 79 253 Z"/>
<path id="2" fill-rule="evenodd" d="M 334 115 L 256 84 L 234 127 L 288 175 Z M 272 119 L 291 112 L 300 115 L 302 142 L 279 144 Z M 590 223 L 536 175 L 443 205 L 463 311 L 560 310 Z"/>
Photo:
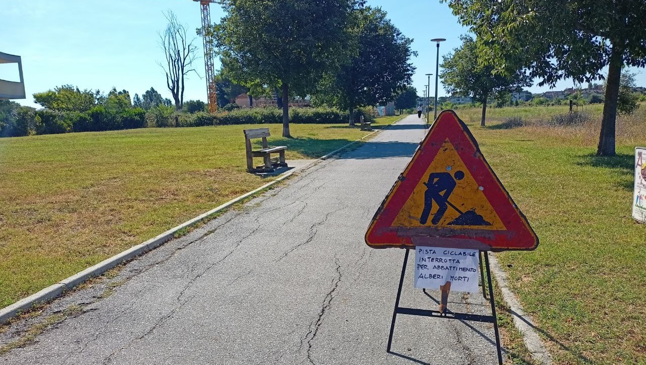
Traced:
<path id="1" fill-rule="evenodd" d="M 364 137 L 357 139 L 357 141 L 354 141 L 352 143 L 348 143 L 345 146 L 342 146 L 341 148 L 337 148 L 337 150 L 334 150 L 333 152 L 328 153 L 327 155 L 324 155 L 319 158 L 319 160 L 325 160 L 328 159 L 331 155 L 334 155 L 335 153 L 338 153 L 341 150 L 344 150 L 344 148 L 347 148 L 351 144 L 357 143 L 361 141 L 362 139 L 366 139 L 366 137 L 373 135 L 374 133 L 380 132 L 392 124 L 397 123 L 404 117 L 401 117 L 397 119 L 397 121 L 394 121 L 393 123 L 389 124 L 388 126 L 376 130 L 375 132 L 372 132 L 368 135 L 365 135 Z M 305 170 L 306 168 L 310 168 L 311 166 L 317 164 L 319 161 L 315 161 L 311 164 L 308 164 L 307 166 L 304 166 L 298 171 Z M 154 237 L 152 239 L 149 239 L 148 241 L 145 241 L 143 243 L 140 243 L 136 246 L 132 246 L 128 250 L 125 250 L 121 253 L 117 253 L 116 255 L 109 257 L 108 259 L 105 259 L 104 261 L 99 262 L 98 264 L 94 266 L 90 266 L 89 268 L 76 273 L 75 275 L 72 275 L 68 277 L 67 279 L 63 279 L 56 284 L 52 284 L 48 286 L 47 288 L 38 291 L 37 293 L 34 293 L 24 299 L 21 299 L 20 301 L 15 302 L 14 304 L 11 304 L 10 306 L 6 306 L 5 308 L 0 309 L 0 324 L 5 324 L 6 322 L 10 321 L 10 319 L 16 317 L 19 313 L 23 311 L 27 311 L 32 306 L 36 304 L 41 304 L 45 303 L 48 301 L 51 301 L 52 299 L 58 297 L 59 295 L 65 293 L 65 291 L 72 290 L 74 286 L 77 286 L 78 284 L 81 284 L 81 282 L 87 281 L 88 279 L 91 279 L 92 277 L 97 277 L 101 275 L 102 273 L 105 273 L 105 271 L 108 271 L 115 266 L 118 266 L 122 262 L 129 261 L 130 259 L 134 259 L 134 257 L 140 256 L 143 253 L 149 252 L 153 250 L 154 248 L 157 248 L 158 246 L 161 246 L 161 244 L 164 244 L 165 242 L 170 241 L 175 233 L 178 231 L 182 230 L 183 228 L 188 228 L 191 226 L 194 226 L 195 224 L 198 224 L 200 221 L 203 219 L 209 217 L 210 215 L 213 215 L 215 213 L 218 213 L 222 210 L 225 210 L 226 208 L 229 208 L 233 204 L 236 204 L 236 202 L 242 201 L 243 199 L 246 199 L 247 197 L 251 197 L 252 195 L 255 195 L 258 192 L 261 192 L 262 190 L 265 190 L 267 188 L 270 188 L 271 186 L 278 184 L 278 182 L 283 181 L 287 179 L 288 177 L 291 177 L 294 175 L 295 172 L 289 172 L 286 173 L 285 175 L 282 175 L 278 177 L 278 179 L 268 182 L 267 184 L 264 184 L 263 186 L 260 186 L 260 188 L 257 188 L 255 190 L 252 190 L 251 192 L 245 193 L 244 195 L 240 195 L 239 197 L 236 197 L 235 199 L 232 199 L 228 202 L 225 202 L 224 204 L 213 208 L 212 210 L 209 210 L 209 212 L 203 213 L 201 215 L 198 215 L 197 217 L 191 219 L 190 221 L 183 222 L 179 226 L 176 226 L 174 228 L 171 228 L 170 230 L 167 230 L 164 233 L 161 233 L 157 237 Z"/>

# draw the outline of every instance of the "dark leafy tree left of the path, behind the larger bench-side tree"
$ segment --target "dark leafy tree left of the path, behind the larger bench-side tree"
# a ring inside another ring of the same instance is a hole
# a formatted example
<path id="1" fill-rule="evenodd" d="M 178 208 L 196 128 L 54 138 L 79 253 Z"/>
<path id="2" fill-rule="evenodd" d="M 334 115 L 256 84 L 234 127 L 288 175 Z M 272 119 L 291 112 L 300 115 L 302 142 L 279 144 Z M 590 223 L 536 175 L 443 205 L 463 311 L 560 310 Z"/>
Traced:
<path id="1" fill-rule="evenodd" d="M 388 103 L 410 84 L 415 72 L 410 57 L 417 55 L 410 48 L 413 40 L 380 8 L 358 8 L 353 16 L 353 39 L 347 42 L 355 44 L 356 52 L 338 72 L 322 81 L 317 92 L 326 104 L 349 110 L 350 125 L 354 125 L 357 108 Z"/>

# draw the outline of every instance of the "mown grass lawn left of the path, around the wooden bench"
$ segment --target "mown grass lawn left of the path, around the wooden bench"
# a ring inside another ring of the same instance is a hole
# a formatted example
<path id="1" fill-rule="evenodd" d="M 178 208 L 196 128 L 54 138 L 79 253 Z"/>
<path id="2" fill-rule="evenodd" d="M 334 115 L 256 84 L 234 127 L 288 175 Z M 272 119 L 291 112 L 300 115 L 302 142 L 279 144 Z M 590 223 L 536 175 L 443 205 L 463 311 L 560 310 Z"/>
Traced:
<path id="1" fill-rule="evenodd" d="M 369 133 L 291 124 L 295 138 L 284 139 L 280 124 L 268 126 L 287 159 L 314 159 Z M 245 171 L 242 130 L 258 127 L 0 139 L 0 308 L 265 184 Z"/>

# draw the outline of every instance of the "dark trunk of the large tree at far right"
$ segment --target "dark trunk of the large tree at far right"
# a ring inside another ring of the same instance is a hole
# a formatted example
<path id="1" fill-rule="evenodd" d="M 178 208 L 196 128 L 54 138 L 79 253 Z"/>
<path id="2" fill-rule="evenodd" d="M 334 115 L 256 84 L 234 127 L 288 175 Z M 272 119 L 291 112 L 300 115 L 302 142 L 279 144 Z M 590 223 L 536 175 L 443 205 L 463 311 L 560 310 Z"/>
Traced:
<path id="1" fill-rule="evenodd" d="M 615 155 L 615 124 L 617 121 L 617 99 L 619 97 L 621 66 L 623 66 L 623 49 L 613 43 L 608 65 L 601 132 L 599 133 L 599 145 L 597 147 L 598 156 Z"/>

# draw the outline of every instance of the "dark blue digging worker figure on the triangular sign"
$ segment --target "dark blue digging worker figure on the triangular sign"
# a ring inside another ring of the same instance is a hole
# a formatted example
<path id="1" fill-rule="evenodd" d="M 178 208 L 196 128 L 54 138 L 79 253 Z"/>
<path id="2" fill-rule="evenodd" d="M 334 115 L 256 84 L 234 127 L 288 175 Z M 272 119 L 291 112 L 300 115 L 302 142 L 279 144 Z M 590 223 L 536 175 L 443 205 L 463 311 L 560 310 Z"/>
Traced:
<path id="1" fill-rule="evenodd" d="M 453 176 L 455 176 L 455 179 L 453 179 Z M 453 176 L 448 172 L 433 172 L 428 175 L 428 182 L 424 182 L 426 193 L 424 193 L 424 210 L 422 211 L 422 217 L 419 219 L 421 224 L 426 224 L 428 221 L 433 202 L 437 204 L 437 212 L 433 214 L 431 223 L 438 224 L 440 222 L 448 208 L 448 204 L 451 204 L 448 198 L 451 196 L 453 189 L 455 189 L 456 181 L 464 179 L 464 172 L 458 170 Z"/>

